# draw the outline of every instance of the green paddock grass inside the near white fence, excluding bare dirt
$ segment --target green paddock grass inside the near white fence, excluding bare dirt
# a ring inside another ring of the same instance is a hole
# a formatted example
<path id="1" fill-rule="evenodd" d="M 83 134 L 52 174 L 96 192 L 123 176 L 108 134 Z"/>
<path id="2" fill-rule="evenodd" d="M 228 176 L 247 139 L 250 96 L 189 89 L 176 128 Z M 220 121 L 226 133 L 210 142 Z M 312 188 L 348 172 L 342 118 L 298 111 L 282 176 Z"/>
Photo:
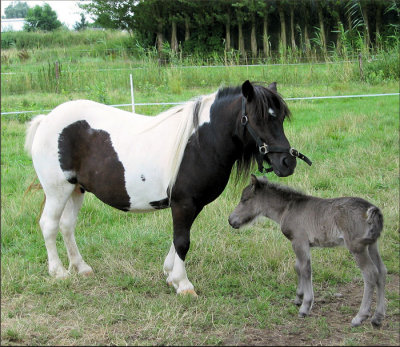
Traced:
<path id="1" fill-rule="evenodd" d="M 300 90 L 284 88 L 285 96 L 289 90 Z M 351 84 L 346 92 L 376 90 Z M 270 179 L 321 197 L 354 195 L 379 206 L 385 218 L 379 248 L 389 280 L 398 279 L 398 98 L 302 101 L 290 102 L 289 107 L 293 120 L 285 125 L 287 137 L 313 166 L 298 162 L 293 176 Z M 76 238 L 95 276 L 50 278 L 37 224 L 42 192 L 24 195 L 35 177 L 23 152 L 24 131 L 21 122 L 2 122 L 3 345 L 246 344 L 251 342 L 249 331 L 284 335 L 285 326 L 298 324 L 297 308 L 291 303 L 295 257 L 278 226 L 264 220 L 235 231 L 228 225 L 247 179 L 238 184 L 231 180 L 193 225 L 186 268 L 197 300 L 177 296 L 165 283 L 162 264 L 172 238 L 169 210 L 126 214 L 90 194 L 80 212 Z M 67 265 L 61 236 L 58 248 Z M 324 296 L 323 288 L 334 293 L 355 279 L 361 294 L 361 274 L 346 249 L 314 249 L 312 259 L 316 300 Z M 390 291 L 386 300 L 388 317 L 380 336 L 396 345 L 399 295 Z M 347 328 L 359 302 L 350 304 L 340 311 L 343 328 L 338 340 L 333 339 L 330 316 L 316 313 L 302 320 L 302 336 L 309 343 L 376 343 L 369 322 L 354 332 Z M 328 314 L 330 304 L 325 305 Z"/>

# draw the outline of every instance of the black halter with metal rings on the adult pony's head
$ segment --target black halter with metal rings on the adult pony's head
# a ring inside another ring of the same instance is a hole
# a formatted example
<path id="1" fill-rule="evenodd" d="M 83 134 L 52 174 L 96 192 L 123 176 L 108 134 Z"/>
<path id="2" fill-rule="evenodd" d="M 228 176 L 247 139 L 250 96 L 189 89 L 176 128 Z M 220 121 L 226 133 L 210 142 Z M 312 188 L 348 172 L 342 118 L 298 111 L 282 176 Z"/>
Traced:
<path id="1" fill-rule="evenodd" d="M 268 164 L 271 165 L 271 162 L 267 156 L 268 153 L 289 153 L 291 156 L 299 158 L 301 160 L 304 160 L 308 165 L 311 166 L 312 162 L 309 158 L 307 158 L 304 154 L 300 153 L 297 149 L 291 148 L 291 147 L 280 147 L 280 146 L 269 146 L 267 145 L 261 137 L 257 135 L 255 130 L 252 128 L 252 126 L 249 123 L 249 118 L 247 117 L 246 114 L 246 99 L 242 97 L 242 118 L 240 120 L 240 123 L 243 125 L 245 129 L 249 132 L 251 137 L 256 141 L 257 147 L 258 147 L 258 153 L 256 155 L 256 160 L 258 164 L 258 170 L 261 173 L 268 173 L 273 171 L 274 169 L 271 167 L 264 167 L 263 165 L 263 160 L 264 157 L 266 156 L 266 161 Z"/>

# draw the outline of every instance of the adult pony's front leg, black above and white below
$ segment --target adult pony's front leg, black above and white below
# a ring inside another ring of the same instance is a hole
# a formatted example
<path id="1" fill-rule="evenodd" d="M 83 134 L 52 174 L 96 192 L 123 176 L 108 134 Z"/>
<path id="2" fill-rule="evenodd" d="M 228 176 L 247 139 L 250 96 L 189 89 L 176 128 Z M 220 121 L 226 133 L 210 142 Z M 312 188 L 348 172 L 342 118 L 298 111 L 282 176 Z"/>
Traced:
<path id="1" fill-rule="evenodd" d="M 173 246 L 175 248 L 175 255 L 173 269 L 168 278 L 171 280 L 178 294 L 197 296 L 193 284 L 189 281 L 186 274 L 185 258 L 190 247 L 190 227 L 198 212 L 196 212 L 196 208 L 193 205 L 179 204 L 173 205 L 171 208 L 174 224 Z"/>

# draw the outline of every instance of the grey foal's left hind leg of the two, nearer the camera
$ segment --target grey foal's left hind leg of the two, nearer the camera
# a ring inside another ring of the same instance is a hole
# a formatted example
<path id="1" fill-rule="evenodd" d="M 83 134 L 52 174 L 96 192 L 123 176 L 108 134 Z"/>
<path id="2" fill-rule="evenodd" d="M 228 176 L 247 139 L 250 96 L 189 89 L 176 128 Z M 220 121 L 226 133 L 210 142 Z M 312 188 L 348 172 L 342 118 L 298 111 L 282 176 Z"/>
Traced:
<path id="1" fill-rule="evenodd" d="M 360 310 L 351 321 L 352 326 L 359 326 L 370 315 L 372 295 L 374 293 L 374 288 L 378 282 L 378 269 L 371 260 L 367 247 L 365 247 L 364 250 L 361 252 L 352 253 L 357 261 L 358 266 L 361 269 L 364 279 L 364 294 Z"/>

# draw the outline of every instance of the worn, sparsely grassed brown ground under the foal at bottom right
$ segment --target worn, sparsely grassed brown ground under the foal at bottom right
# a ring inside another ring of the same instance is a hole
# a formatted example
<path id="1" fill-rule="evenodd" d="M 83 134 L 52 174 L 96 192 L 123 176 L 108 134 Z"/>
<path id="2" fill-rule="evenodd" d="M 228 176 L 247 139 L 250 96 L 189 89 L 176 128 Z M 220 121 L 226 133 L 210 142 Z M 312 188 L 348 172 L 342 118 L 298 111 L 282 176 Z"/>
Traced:
<path id="1" fill-rule="evenodd" d="M 386 316 L 377 329 L 370 319 L 361 327 L 352 328 L 351 319 L 358 312 L 363 283 L 354 280 L 336 288 L 334 294 L 327 287 L 314 285 L 315 302 L 311 315 L 298 318 L 295 315 L 283 325 L 265 329 L 246 326 L 240 333 L 224 339 L 224 345 L 243 346 L 399 346 L 399 275 L 388 274 L 386 279 Z M 388 307 L 387 296 L 396 296 L 396 305 Z M 293 304 L 293 303 L 291 303 Z M 293 304 L 294 305 L 294 304 Z M 372 312 L 375 309 L 375 299 Z"/>

